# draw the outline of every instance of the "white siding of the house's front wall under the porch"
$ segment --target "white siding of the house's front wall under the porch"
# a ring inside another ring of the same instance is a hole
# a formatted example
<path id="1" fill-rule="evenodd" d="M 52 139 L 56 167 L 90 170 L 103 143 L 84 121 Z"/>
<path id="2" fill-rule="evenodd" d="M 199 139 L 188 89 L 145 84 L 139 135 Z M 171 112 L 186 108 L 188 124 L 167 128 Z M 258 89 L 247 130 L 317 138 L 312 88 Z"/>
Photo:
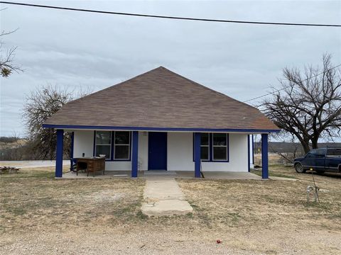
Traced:
<path id="1" fill-rule="evenodd" d="M 202 162 L 202 171 L 248 171 L 246 134 L 229 134 L 229 162 Z M 75 130 L 74 157 L 93 155 L 94 131 Z M 168 171 L 194 171 L 193 133 L 168 132 Z M 107 170 L 131 171 L 131 162 L 106 162 Z M 148 170 L 148 132 L 139 132 L 139 170 Z"/>

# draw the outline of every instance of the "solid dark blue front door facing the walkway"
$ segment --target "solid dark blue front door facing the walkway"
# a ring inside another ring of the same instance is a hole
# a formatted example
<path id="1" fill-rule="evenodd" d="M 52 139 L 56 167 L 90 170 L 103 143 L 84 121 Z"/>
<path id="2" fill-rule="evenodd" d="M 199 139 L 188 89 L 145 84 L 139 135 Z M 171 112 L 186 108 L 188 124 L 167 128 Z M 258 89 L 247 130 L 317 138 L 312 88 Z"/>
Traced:
<path id="1" fill-rule="evenodd" d="M 148 133 L 148 170 L 167 170 L 167 132 Z"/>

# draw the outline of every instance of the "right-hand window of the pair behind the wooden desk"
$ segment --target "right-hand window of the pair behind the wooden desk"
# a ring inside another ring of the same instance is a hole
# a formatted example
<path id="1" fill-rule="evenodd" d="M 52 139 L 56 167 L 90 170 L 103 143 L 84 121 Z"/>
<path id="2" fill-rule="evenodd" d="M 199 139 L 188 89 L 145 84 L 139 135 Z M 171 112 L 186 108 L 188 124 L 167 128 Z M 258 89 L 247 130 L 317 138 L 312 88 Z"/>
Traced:
<path id="1" fill-rule="evenodd" d="M 114 159 L 129 159 L 130 132 L 116 131 L 114 139 Z"/>

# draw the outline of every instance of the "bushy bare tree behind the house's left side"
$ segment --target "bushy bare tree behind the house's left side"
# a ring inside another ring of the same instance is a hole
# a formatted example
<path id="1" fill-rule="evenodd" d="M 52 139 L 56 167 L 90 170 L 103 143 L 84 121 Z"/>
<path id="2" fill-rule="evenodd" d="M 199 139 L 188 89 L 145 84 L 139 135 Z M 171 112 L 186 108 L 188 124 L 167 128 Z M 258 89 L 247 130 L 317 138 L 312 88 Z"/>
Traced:
<path id="1" fill-rule="evenodd" d="M 53 113 L 62 108 L 65 103 L 74 99 L 73 91 L 58 89 L 56 86 L 43 86 L 26 97 L 23 109 L 23 119 L 28 129 L 28 138 L 31 142 L 33 154 L 38 158 L 55 159 L 55 147 L 57 144 L 55 130 L 43 128 L 45 120 Z M 85 96 L 85 92 L 80 92 L 77 97 Z M 64 154 L 70 154 L 70 134 L 64 134 Z"/>

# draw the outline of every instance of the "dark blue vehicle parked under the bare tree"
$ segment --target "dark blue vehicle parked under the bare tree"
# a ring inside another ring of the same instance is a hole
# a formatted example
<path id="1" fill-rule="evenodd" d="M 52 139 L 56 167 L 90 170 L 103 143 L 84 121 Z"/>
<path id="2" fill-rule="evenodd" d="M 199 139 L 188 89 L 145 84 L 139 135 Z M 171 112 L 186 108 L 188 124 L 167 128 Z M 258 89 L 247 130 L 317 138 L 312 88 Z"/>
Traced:
<path id="1" fill-rule="evenodd" d="M 293 160 L 298 173 L 314 170 L 318 173 L 341 172 L 341 147 L 312 149 L 304 157 Z"/>

